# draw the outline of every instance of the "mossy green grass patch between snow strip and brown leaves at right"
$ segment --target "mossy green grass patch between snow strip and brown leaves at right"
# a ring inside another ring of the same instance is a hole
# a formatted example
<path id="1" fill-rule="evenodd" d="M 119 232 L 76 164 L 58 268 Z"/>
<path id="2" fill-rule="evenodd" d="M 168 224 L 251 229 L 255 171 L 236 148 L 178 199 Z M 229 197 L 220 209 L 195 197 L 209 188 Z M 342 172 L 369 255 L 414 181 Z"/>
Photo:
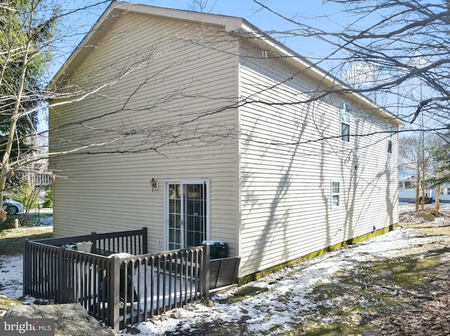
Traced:
<path id="1" fill-rule="evenodd" d="M 378 335 L 372 333 L 373 319 L 395 316 L 403 306 L 439 291 L 430 279 L 442 277 L 444 265 L 439 256 L 449 252 L 447 243 L 437 242 L 407 256 L 366 261 L 342 270 L 330 282 L 315 285 L 307 298 L 318 303 L 316 309 L 299 316 L 297 324 L 290 325 L 298 332 L 286 335 Z"/>

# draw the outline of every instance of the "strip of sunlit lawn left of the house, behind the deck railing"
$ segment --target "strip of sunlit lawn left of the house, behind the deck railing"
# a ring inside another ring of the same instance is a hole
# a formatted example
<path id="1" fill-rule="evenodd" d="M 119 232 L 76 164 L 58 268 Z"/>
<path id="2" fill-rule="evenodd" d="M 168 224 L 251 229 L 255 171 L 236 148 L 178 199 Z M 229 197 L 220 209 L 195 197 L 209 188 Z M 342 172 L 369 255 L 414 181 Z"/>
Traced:
<path id="1" fill-rule="evenodd" d="M 0 232 L 0 255 L 15 256 L 23 253 L 23 241 L 53 237 L 53 227 L 8 229 Z"/>

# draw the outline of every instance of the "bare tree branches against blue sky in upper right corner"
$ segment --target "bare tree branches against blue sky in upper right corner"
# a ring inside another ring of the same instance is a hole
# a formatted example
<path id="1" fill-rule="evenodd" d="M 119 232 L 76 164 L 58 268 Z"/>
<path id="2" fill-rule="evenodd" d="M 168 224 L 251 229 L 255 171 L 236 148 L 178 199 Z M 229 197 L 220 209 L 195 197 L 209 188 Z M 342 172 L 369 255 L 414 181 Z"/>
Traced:
<path id="1" fill-rule="evenodd" d="M 317 63 L 334 64 L 330 73 L 347 80 L 353 92 L 370 94 L 372 98 L 387 96 L 386 108 L 411 123 L 422 113 L 432 121 L 431 129 L 442 127 L 448 120 L 449 1 L 324 1 L 323 6 L 342 5 L 345 18 L 352 20 L 343 23 L 339 31 L 306 25 L 290 13 L 283 15 L 254 1 L 295 25 L 293 30 L 282 32 L 284 36 L 327 42 L 332 52 Z M 301 8 L 297 12 L 301 13 Z"/>

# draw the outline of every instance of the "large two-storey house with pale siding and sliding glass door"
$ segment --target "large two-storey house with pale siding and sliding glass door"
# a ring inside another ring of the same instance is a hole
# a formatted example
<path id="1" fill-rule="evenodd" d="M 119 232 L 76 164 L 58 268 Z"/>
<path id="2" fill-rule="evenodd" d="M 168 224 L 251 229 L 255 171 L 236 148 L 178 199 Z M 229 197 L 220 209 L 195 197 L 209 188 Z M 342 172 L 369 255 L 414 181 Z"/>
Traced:
<path id="1" fill-rule="evenodd" d="M 243 277 L 392 228 L 401 122 L 314 99 L 341 84 L 241 18 L 113 1 L 49 87 L 55 235 L 220 240 Z"/>

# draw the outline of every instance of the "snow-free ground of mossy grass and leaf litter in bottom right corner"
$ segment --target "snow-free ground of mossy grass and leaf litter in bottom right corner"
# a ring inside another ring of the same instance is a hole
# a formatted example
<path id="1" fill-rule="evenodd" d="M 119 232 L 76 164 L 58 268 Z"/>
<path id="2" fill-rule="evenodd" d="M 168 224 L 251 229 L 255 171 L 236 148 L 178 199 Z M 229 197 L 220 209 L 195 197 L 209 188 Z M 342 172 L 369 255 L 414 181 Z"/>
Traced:
<path id="1" fill-rule="evenodd" d="M 311 321 L 297 323 L 289 332 L 281 328 L 254 334 L 243 318 L 165 335 L 450 336 L 450 206 L 443 206 L 434 221 L 423 220 L 423 211 L 411 206 L 400 211 L 399 225 L 413 229 L 409 237 L 417 243 L 402 256 L 367 261 L 336 274 L 333 282 L 316 284 L 307 297 L 318 302 Z M 331 319 L 335 323 L 316 326 Z"/>

